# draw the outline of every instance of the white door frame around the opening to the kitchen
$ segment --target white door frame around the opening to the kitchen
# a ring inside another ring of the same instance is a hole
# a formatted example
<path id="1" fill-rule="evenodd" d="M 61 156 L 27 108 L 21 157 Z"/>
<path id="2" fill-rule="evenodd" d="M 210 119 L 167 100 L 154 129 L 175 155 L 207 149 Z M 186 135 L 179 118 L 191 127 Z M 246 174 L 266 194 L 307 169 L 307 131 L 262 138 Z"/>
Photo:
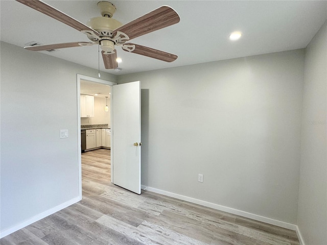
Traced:
<path id="1" fill-rule="evenodd" d="M 79 199 L 82 199 L 82 148 L 81 148 L 81 80 L 85 80 L 92 83 L 100 83 L 104 85 L 111 86 L 111 96 L 110 96 L 110 125 L 112 125 L 112 86 L 117 83 L 110 82 L 103 79 L 92 78 L 85 75 L 77 74 L 76 83 L 77 83 L 77 145 L 78 145 L 78 181 L 79 181 Z M 111 128 L 111 127 L 110 127 Z M 112 133 L 110 134 L 112 139 Z M 112 140 L 111 140 L 112 142 Z M 110 151 L 110 157 L 112 152 Z M 113 164 L 111 165 L 111 182 L 113 182 Z"/>

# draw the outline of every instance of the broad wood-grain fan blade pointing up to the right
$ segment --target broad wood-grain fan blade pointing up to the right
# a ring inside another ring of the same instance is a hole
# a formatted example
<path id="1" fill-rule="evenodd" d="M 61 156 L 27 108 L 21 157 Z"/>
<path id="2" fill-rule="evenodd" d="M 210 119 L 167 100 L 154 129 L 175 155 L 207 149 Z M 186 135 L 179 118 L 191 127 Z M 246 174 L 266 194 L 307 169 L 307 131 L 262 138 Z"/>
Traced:
<path id="1" fill-rule="evenodd" d="M 129 40 L 144 34 L 169 27 L 179 22 L 179 15 L 169 6 L 161 6 L 133 21 L 112 31 L 113 36 L 118 31 L 125 33 Z"/>

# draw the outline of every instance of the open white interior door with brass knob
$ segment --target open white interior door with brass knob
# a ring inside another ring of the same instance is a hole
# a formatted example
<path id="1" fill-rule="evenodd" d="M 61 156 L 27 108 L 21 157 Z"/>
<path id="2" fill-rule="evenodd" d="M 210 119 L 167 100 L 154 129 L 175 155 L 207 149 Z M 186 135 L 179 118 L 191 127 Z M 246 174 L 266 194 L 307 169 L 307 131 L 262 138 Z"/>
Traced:
<path id="1" fill-rule="evenodd" d="M 111 134 L 113 183 L 141 194 L 141 147 L 139 146 L 141 84 L 139 81 L 112 87 Z"/>

